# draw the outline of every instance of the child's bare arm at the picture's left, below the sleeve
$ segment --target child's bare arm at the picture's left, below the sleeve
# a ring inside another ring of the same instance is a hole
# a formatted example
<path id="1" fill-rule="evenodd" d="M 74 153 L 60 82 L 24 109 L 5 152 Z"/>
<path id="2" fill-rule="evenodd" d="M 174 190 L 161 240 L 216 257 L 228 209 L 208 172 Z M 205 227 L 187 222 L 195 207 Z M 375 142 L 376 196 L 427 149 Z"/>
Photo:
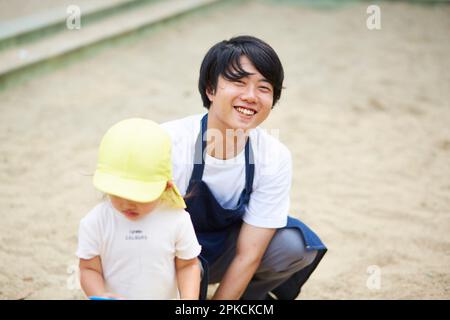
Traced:
<path id="1" fill-rule="evenodd" d="M 86 296 L 105 298 L 120 298 L 115 294 L 105 292 L 105 282 L 100 257 L 80 259 L 80 283 Z"/>

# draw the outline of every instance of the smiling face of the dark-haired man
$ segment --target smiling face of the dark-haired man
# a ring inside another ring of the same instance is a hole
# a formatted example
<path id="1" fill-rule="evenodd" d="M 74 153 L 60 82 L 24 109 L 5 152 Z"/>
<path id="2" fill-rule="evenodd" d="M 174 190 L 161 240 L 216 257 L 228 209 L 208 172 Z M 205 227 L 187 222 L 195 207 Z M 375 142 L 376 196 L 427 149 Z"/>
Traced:
<path id="1" fill-rule="evenodd" d="M 213 128 L 252 129 L 261 124 L 272 109 L 272 85 L 246 56 L 241 56 L 240 63 L 251 75 L 237 81 L 219 76 L 214 94 L 207 92 L 211 101 L 208 120 Z"/>

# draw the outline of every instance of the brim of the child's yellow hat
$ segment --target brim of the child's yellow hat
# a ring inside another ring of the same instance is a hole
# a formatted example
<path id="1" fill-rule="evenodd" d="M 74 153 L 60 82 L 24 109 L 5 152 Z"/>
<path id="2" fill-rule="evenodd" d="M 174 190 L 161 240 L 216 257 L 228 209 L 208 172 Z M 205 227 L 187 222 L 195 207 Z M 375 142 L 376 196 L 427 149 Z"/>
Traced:
<path id="1" fill-rule="evenodd" d="M 167 181 L 144 182 L 98 170 L 94 174 L 93 183 L 102 192 L 136 202 L 151 202 L 158 199 L 167 186 Z"/>

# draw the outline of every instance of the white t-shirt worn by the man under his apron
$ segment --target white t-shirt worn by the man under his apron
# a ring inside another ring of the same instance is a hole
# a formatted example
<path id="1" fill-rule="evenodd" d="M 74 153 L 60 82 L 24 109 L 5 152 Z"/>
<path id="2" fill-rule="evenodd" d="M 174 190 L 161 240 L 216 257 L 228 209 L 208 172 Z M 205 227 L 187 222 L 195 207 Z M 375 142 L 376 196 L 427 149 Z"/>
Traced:
<path id="1" fill-rule="evenodd" d="M 172 137 L 175 184 L 186 194 L 194 168 L 195 142 L 204 114 L 162 124 Z M 290 151 L 262 128 L 250 132 L 255 176 L 250 202 L 243 220 L 262 228 L 280 228 L 287 223 L 292 179 Z M 245 187 L 245 149 L 235 158 L 220 160 L 206 154 L 202 180 L 222 205 L 234 208 Z"/>

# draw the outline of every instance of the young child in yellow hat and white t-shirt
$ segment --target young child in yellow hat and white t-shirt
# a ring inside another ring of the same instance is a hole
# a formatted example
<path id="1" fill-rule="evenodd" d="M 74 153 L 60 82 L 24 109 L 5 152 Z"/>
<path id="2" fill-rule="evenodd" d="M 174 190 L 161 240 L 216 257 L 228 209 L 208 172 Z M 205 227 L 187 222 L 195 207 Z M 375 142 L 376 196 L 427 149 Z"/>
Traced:
<path id="1" fill-rule="evenodd" d="M 88 297 L 198 299 L 201 247 L 171 179 L 171 140 L 158 124 L 128 119 L 106 132 L 93 183 L 107 199 L 79 228 Z"/>

